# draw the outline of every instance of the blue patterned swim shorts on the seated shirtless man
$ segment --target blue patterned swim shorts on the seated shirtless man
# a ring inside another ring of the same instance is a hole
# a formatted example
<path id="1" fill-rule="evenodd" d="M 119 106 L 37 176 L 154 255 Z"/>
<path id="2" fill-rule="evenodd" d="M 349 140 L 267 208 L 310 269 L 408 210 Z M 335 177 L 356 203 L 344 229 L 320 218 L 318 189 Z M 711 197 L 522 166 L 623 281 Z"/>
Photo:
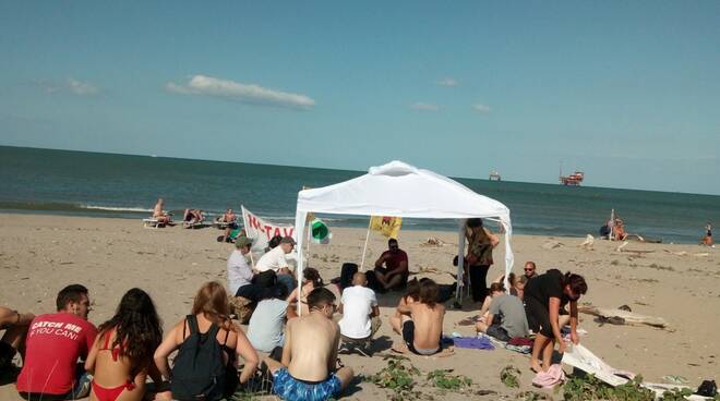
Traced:
<path id="1" fill-rule="evenodd" d="M 287 401 L 321 401 L 334 398 L 340 393 L 340 379 L 334 373 L 320 382 L 298 380 L 290 376 L 287 368 L 281 368 L 273 375 L 273 391 Z"/>

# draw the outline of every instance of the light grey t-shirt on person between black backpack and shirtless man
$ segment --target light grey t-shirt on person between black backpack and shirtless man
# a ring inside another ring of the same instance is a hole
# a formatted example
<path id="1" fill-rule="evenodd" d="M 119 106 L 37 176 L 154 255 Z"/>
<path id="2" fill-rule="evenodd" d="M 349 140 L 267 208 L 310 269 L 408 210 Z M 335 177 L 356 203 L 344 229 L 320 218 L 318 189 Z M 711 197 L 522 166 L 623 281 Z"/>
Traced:
<path id="1" fill-rule="evenodd" d="M 257 351 L 271 352 L 283 347 L 283 324 L 288 303 L 272 299 L 261 301 L 248 324 L 248 340 Z"/>

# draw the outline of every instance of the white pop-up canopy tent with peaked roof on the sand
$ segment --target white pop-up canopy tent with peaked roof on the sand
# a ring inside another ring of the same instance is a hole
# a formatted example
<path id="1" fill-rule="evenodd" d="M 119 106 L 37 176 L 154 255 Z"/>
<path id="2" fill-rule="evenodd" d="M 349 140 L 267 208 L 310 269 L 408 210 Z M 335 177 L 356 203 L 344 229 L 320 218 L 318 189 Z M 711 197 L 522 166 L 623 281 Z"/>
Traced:
<path id="1" fill-rule="evenodd" d="M 393 216 L 425 219 L 459 219 L 458 255 L 465 255 L 465 219 L 489 218 L 505 231 L 505 285 L 513 268 L 509 209 L 502 203 L 479 195 L 467 186 L 430 170 L 401 161 L 371 167 L 352 180 L 298 193 L 295 236 L 298 251 L 298 282 L 302 282 L 302 232 L 309 212 L 332 215 Z M 461 260 L 461 258 L 460 258 Z M 457 285 L 463 281 L 458 263 Z M 300 305 L 298 305 L 298 314 Z"/>

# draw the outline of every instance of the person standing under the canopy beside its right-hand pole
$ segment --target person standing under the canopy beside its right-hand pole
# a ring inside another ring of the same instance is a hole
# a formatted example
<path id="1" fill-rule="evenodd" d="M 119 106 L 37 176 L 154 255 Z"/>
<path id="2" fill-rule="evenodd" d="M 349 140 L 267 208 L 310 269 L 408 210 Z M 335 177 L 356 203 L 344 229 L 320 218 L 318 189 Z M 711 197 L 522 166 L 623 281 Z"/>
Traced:
<path id="1" fill-rule="evenodd" d="M 492 250 L 500 240 L 490 230 L 482 227 L 482 219 L 475 218 L 467 221 L 466 238 L 468 240 L 468 254 L 465 260 L 470 276 L 470 292 L 475 302 L 482 302 L 488 295 L 488 270 L 493 264 Z"/>

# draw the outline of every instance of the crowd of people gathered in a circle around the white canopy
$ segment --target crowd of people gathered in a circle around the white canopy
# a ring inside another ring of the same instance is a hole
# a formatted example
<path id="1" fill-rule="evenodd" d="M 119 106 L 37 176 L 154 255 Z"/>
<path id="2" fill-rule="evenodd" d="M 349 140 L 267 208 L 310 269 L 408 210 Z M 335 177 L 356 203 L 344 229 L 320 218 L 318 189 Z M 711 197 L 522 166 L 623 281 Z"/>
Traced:
<path id="1" fill-rule="evenodd" d="M 469 250 L 463 258 L 473 300 L 482 303 L 476 329 L 501 341 L 535 333 L 530 367 L 544 372 L 555 345 L 565 350 L 563 326 L 569 324 L 569 339 L 579 341 L 577 301 L 587 284 L 556 269 L 539 274 L 528 262 L 523 275 L 509 275 L 509 291 L 504 277 L 488 289 L 484 278 L 497 239 L 477 220 L 468 221 Z M 239 236 L 227 259 L 227 291 L 218 282 L 203 284 L 189 314 L 165 335 L 153 300 L 137 288 L 97 328 L 87 319 L 88 290 L 80 284 L 58 293 L 56 313 L 34 316 L 0 307 L 5 330 L 0 368 L 22 355 L 16 388 L 27 400 L 88 394 L 99 401 L 141 400 L 151 390 L 157 400 L 218 400 L 263 375 L 281 399 L 326 400 L 337 398 L 353 378 L 352 369 L 338 363 L 338 352 L 372 341 L 381 327 L 375 291 L 393 290 L 403 291 L 389 316 L 398 336 L 393 350 L 443 352 L 447 296 L 429 278 L 408 280 L 408 255 L 397 240 L 388 241 L 373 270 L 346 264 L 340 280 L 329 283 L 311 267 L 296 283 L 286 259 L 295 241 L 281 238 L 272 245 L 252 266 L 252 240 Z M 248 306 L 243 316 L 233 306 L 237 300 Z M 259 352 L 268 356 L 261 361 Z"/>

